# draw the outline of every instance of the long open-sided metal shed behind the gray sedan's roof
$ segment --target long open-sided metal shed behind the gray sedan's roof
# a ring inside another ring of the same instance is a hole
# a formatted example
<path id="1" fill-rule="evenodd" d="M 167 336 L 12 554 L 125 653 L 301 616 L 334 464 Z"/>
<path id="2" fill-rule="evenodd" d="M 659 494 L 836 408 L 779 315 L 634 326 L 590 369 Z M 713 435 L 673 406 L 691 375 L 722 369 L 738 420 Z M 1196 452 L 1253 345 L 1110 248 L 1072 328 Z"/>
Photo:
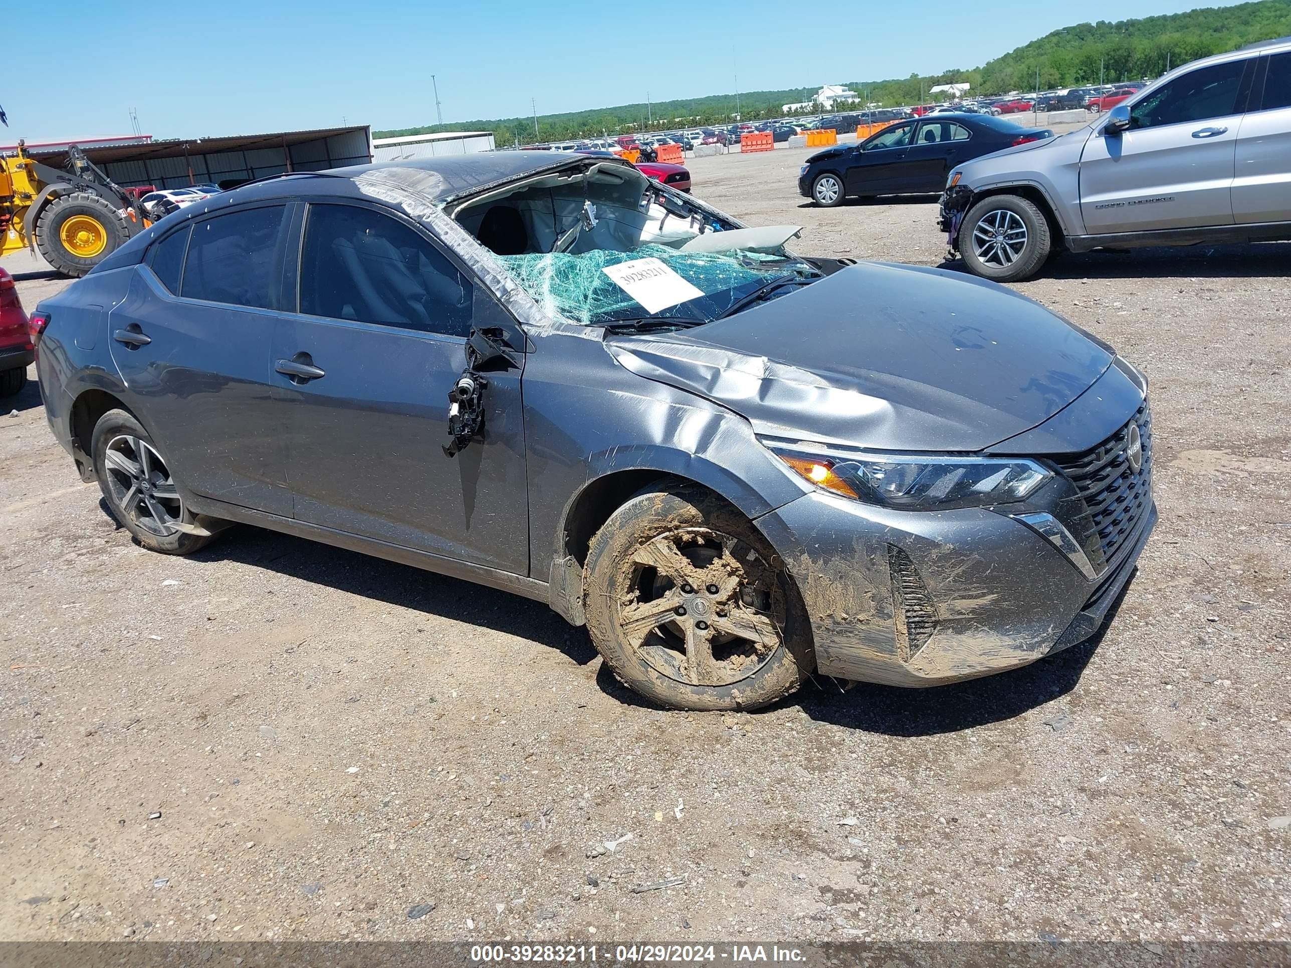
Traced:
<path id="1" fill-rule="evenodd" d="M 90 139 L 72 143 L 79 143 L 90 161 L 124 187 L 182 188 L 214 182 L 231 188 L 269 174 L 320 172 L 372 161 L 368 125 L 127 145 L 96 145 Z M 67 161 L 66 143 L 30 147 L 45 164 L 62 168 Z"/>

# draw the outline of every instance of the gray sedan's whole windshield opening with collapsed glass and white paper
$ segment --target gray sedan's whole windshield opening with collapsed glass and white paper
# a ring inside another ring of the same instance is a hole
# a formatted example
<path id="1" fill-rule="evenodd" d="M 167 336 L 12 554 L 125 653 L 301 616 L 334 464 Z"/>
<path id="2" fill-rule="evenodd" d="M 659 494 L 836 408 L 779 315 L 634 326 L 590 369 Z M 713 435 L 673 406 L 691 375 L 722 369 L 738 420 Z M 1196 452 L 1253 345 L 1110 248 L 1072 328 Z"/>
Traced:
<path id="1" fill-rule="evenodd" d="M 698 325 L 821 276 L 785 249 L 799 226 L 740 227 L 617 159 L 541 173 L 454 218 L 547 315 L 587 327 Z"/>

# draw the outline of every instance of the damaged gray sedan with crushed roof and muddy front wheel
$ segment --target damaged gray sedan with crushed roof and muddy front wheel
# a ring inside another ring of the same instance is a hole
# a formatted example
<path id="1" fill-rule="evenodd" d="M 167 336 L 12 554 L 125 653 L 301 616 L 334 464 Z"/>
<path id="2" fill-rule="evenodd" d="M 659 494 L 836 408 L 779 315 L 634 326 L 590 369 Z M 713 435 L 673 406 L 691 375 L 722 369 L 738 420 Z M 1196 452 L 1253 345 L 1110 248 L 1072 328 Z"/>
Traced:
<path id="1" fill-rule="evenodd" d="M 287 174 L 32 316 L 145 547 L 245 523 L 546 601 L 678 709 L 1092 635 L 1155 521 L 1143 376 L 1010 289 L 806 258 L 617 159 Z"/>

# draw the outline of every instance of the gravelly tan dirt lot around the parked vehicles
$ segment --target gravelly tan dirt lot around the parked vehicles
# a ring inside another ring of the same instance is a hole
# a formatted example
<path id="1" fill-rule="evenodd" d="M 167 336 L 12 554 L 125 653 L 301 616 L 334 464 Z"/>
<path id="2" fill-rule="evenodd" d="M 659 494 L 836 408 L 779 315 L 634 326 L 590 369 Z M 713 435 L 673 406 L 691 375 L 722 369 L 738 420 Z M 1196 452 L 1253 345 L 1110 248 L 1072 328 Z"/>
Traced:
<path id="1" fill-rule="evenodd" d="M 807 154 L 696 160 L 696 192 L 802 252 L 941 262 L 933 200 L 807 208 Z M 0 417 L 0 937 L 1291 937 L 1288 266 L 1019 285 L 1153 381 L 1161 524 L 1100 641 L 751 715 L 646 707 L 545 607 L 411 568 L 252 528 L 145 552 L 28 387 Z"/>

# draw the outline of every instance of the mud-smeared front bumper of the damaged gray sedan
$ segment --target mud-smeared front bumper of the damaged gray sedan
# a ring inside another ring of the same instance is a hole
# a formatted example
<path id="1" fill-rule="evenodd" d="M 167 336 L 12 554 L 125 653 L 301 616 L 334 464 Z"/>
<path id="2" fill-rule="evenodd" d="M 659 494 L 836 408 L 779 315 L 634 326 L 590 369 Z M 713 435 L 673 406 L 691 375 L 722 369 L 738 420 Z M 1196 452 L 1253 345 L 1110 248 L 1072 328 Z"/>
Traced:
<path id="1" fill-rule="evenodd" d="M 824 675 L 941 685 L 1093 635 L 1157 521 L 1093 581 L 1035 530 L 981 509 L 888 511 L 822 492 L 758 519 L 798 583 Z"/>

